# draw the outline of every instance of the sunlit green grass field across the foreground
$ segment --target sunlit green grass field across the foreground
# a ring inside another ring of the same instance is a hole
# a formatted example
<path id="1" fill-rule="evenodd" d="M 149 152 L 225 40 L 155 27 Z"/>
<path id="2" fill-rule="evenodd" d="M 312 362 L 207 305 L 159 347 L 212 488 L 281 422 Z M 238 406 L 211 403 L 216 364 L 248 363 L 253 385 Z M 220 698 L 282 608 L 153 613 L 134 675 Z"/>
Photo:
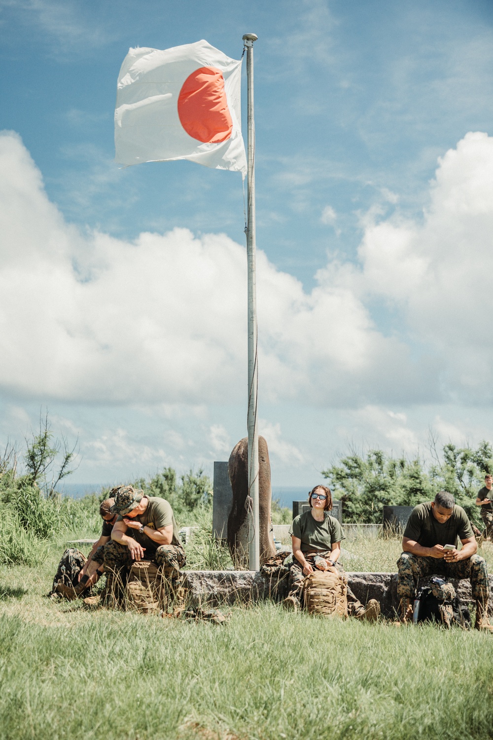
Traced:
<path id="1" fill-rule="evenodd" d="M 493 736 L 492 636 L 271 603 L 225 627 L 91 612 L 43 596 L 59 556 L 0 568 L 1 739 Z"/>

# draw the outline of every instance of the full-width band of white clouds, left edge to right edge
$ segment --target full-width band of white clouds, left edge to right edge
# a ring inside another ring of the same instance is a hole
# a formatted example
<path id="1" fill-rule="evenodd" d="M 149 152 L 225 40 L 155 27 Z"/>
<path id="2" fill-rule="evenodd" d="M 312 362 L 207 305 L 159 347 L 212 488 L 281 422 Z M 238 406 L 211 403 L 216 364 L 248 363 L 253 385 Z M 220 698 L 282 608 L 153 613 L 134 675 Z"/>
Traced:
<path id="1" fill-rule="evenodd" d="M 188 229 L 133 242 L 82 232 L 50 203 L 13 132 L 0 136 L 0 170 L 4 394 L 242 400 L 243 246 Z M 310 293 L 259 251 L 262 397 L 339 408 L 491 403 L 492 196 L 493 138 L 468 133 L 439 161 L 424 218 L 368 213 L 358 262 L 329 255 Z M 375 306 L 398 312 L 400 330 L 379 329 Z"/>

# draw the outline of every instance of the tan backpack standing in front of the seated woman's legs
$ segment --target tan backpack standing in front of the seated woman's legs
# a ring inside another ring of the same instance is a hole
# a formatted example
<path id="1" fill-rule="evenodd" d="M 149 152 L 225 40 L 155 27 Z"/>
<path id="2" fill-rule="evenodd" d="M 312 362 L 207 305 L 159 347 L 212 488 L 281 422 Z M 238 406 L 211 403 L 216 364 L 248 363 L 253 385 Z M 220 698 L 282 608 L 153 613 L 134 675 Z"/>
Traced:
<path id="1" fill-rule="evenodd" d="M 336 569 L 310 573 L 303 593 L 308 613 L 347 617 L 347 582 Z"/>

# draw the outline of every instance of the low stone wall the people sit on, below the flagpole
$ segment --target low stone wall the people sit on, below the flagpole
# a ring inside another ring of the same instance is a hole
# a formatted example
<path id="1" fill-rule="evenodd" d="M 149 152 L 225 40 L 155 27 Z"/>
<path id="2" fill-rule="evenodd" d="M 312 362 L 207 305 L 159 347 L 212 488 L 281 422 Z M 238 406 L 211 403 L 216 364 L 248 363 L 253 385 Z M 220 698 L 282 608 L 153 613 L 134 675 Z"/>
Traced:
<path id="1" fill-rule="evenodd" d="M 191 605 L 232 605 L 262 599 L 284 599 L 288 593 L 288 577 L 282 579 L 262 576 L 259 571 L 184 571 Z M 392 619 L 398 608 L 397 573 L 347 573 L 348 583 L 362 604 L 370 599 L 380 602 L 381 613 Z M 472 604 L 469 580 L 452 580 L 461 601 Z M 493 592 L 493 576 L 489 577 Z M 489 603 L 493 616 L 493 599 Z"/>

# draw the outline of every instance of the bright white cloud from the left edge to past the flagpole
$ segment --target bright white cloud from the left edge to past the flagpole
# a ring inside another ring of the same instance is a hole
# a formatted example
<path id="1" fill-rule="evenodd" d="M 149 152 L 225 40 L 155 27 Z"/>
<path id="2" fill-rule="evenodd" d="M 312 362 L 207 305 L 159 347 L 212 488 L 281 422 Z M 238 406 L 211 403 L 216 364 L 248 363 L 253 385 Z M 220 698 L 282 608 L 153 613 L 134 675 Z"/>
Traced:
<path id="1" fill-rule="evenodd" d="M 20 139 L 0 137 L 0 386 L 21 397 L 225 403 L 245 387 L 245 249 L 186 229 L 81 235 Z M 413 377 L 353 290 L 307 295 L 258 252 L 262 392 L 354 403 Z M 364 390 L 364 385 L 369 390 Z M 370 390 L 373 388 L 373 390 Z"/>

